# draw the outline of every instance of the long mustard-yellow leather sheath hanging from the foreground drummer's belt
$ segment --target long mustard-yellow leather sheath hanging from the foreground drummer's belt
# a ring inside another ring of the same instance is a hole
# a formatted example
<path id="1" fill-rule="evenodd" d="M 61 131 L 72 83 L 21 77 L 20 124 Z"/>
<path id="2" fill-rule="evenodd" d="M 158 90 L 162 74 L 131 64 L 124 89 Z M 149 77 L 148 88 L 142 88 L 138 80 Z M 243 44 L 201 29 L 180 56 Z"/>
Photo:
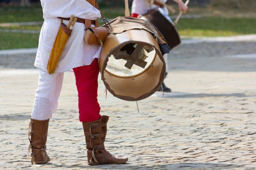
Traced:
<path id="1" fill-rule="evenodd" d="M 57 67 L 58 61 L 60 59 L 61 53 L 65 48 L 65 45 L 68 41 L 68 38 L 71 35 L 71 32 L 72 32 L 72 29 L 68 28 L 65 24 L 63 24 L 61 20 L 60 29 L 58 31 L 58 34 L 52 46 L 51 55 L 49 57 L 49 61 L 47 65 L 47 71 L 49 74 L 54 73 Z"/>

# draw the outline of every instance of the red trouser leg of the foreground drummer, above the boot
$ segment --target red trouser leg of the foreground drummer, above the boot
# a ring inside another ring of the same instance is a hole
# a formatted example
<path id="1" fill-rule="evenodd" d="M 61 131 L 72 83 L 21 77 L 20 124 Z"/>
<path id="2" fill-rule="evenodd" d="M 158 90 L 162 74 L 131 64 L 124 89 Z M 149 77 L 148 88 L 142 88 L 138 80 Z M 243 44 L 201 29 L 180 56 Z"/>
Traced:
<path id="1" fill-rule="evenodd" d="M 98 96 L 98 60 L 94 59 L 90 66 L 76 67 L 73 69 L 76 76 L 78 92 L 78 108 L 80 122 L 92 122 L 100 116 Z"/>

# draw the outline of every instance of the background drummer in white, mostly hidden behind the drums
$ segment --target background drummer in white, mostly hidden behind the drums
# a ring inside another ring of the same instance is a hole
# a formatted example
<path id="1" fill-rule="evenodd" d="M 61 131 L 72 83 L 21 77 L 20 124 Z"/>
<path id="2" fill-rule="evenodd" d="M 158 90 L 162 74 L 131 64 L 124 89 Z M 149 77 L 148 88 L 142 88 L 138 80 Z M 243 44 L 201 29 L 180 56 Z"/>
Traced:
<path id="1" fill-rule="evenodd" d="M 160 11 L 160 13 L 162 13 L 164 15 L 164 17 L 166 17 L 170 22 L 172 22 L 172 19 L 168 16 L 169 11 L 166 8 L 166 6 L 163 6 L 159 3 L 157 3 L 156 1 L 154 1 L 154 3 L 151 6 L 149 6 L 148 5 L 149 3 L 147 3 L 147 1 L 148 0 L 133 0 L 132 1 L 131 17 L 138 17 L 139 15 L 144 15 L 151 9 L 157 9 Z M 159 0 L 159 1 L 166 3 L 166 1 L 168 1 L 168 0 Z M 180 12 L 186 13 L 186 11 L 188 10 L 188 6 L 186 6 L 182 0 L 173 0 L 173 1 L 175 1 L 179 5 Z M 166 63 L 166 76 L 167 76 L 167 74 L 168 74 L 168 53 L 165 53 L 163 55 L 163 57 L 164 57 L 164 61 Z M 172 92 L 172 90 L 170 88 L 166 87 L 164 82 L 162 83 L 162 87 L 163 87 L 164 92 Z M 162 91 L 162 88 L 160 88 L 158 91 Z"/>

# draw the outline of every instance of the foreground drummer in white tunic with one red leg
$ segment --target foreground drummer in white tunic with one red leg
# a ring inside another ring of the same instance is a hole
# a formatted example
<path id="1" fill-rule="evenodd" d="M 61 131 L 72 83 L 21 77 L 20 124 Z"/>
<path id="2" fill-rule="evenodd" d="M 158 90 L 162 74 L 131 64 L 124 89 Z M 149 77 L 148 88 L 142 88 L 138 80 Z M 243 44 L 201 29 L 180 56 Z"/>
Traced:
<path id="1" fill-rule="evenodd" d="M 45 164 L 50 161 L 46 153 L 49 119 L 58 106 L 58 98 L 65 71 L 73 69 L 78 92 L 79 120 L 83 123 L 86 138 L 88 164 L 124 164 L 127 158 L 116 158 L 104 147 L 108 116 L 100 115 L 97 101 L 98 59 L 100 46 L 84 43 L 84 20 L 97 20 L 100 11 L 95 0 L 41 0 L 44 24 L 39 37 L 35 66 L 39 69 L 38 89 L 29 123 L 29 150 L 31 163 Z M 47 72 L 47 64 L 58 29 L 67 25 L 69 17 L 78 19 L 71 36 L 61 53 L 54 73 Z M 82 20 L 82 22 L 78 22 Z M 93 26 L 93 25 L 92 25 Z"/>

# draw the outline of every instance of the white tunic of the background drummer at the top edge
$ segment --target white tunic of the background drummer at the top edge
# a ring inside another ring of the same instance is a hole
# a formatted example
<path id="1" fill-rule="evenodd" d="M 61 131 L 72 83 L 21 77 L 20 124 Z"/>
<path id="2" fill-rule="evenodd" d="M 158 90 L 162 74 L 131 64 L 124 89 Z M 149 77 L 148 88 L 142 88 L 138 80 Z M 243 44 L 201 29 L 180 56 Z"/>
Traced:
<path id="1" fill-rule="evenodd" d="M 167 0 L 161 0 L 163 3 L 166 3 Z M 148 10 L 151 10 L 153 8 L 159 8 L 159 6 L 152 4 L 152 6 L 148 6 L 145 0 L 133 0 L 132 1 L 132 13 L 138 13 L 139 15 L 144 15 L 147 13 Z M 164 6 L 164 8 L 161 8 L 165 15 L 169 15 L 169 11 Z"/>

